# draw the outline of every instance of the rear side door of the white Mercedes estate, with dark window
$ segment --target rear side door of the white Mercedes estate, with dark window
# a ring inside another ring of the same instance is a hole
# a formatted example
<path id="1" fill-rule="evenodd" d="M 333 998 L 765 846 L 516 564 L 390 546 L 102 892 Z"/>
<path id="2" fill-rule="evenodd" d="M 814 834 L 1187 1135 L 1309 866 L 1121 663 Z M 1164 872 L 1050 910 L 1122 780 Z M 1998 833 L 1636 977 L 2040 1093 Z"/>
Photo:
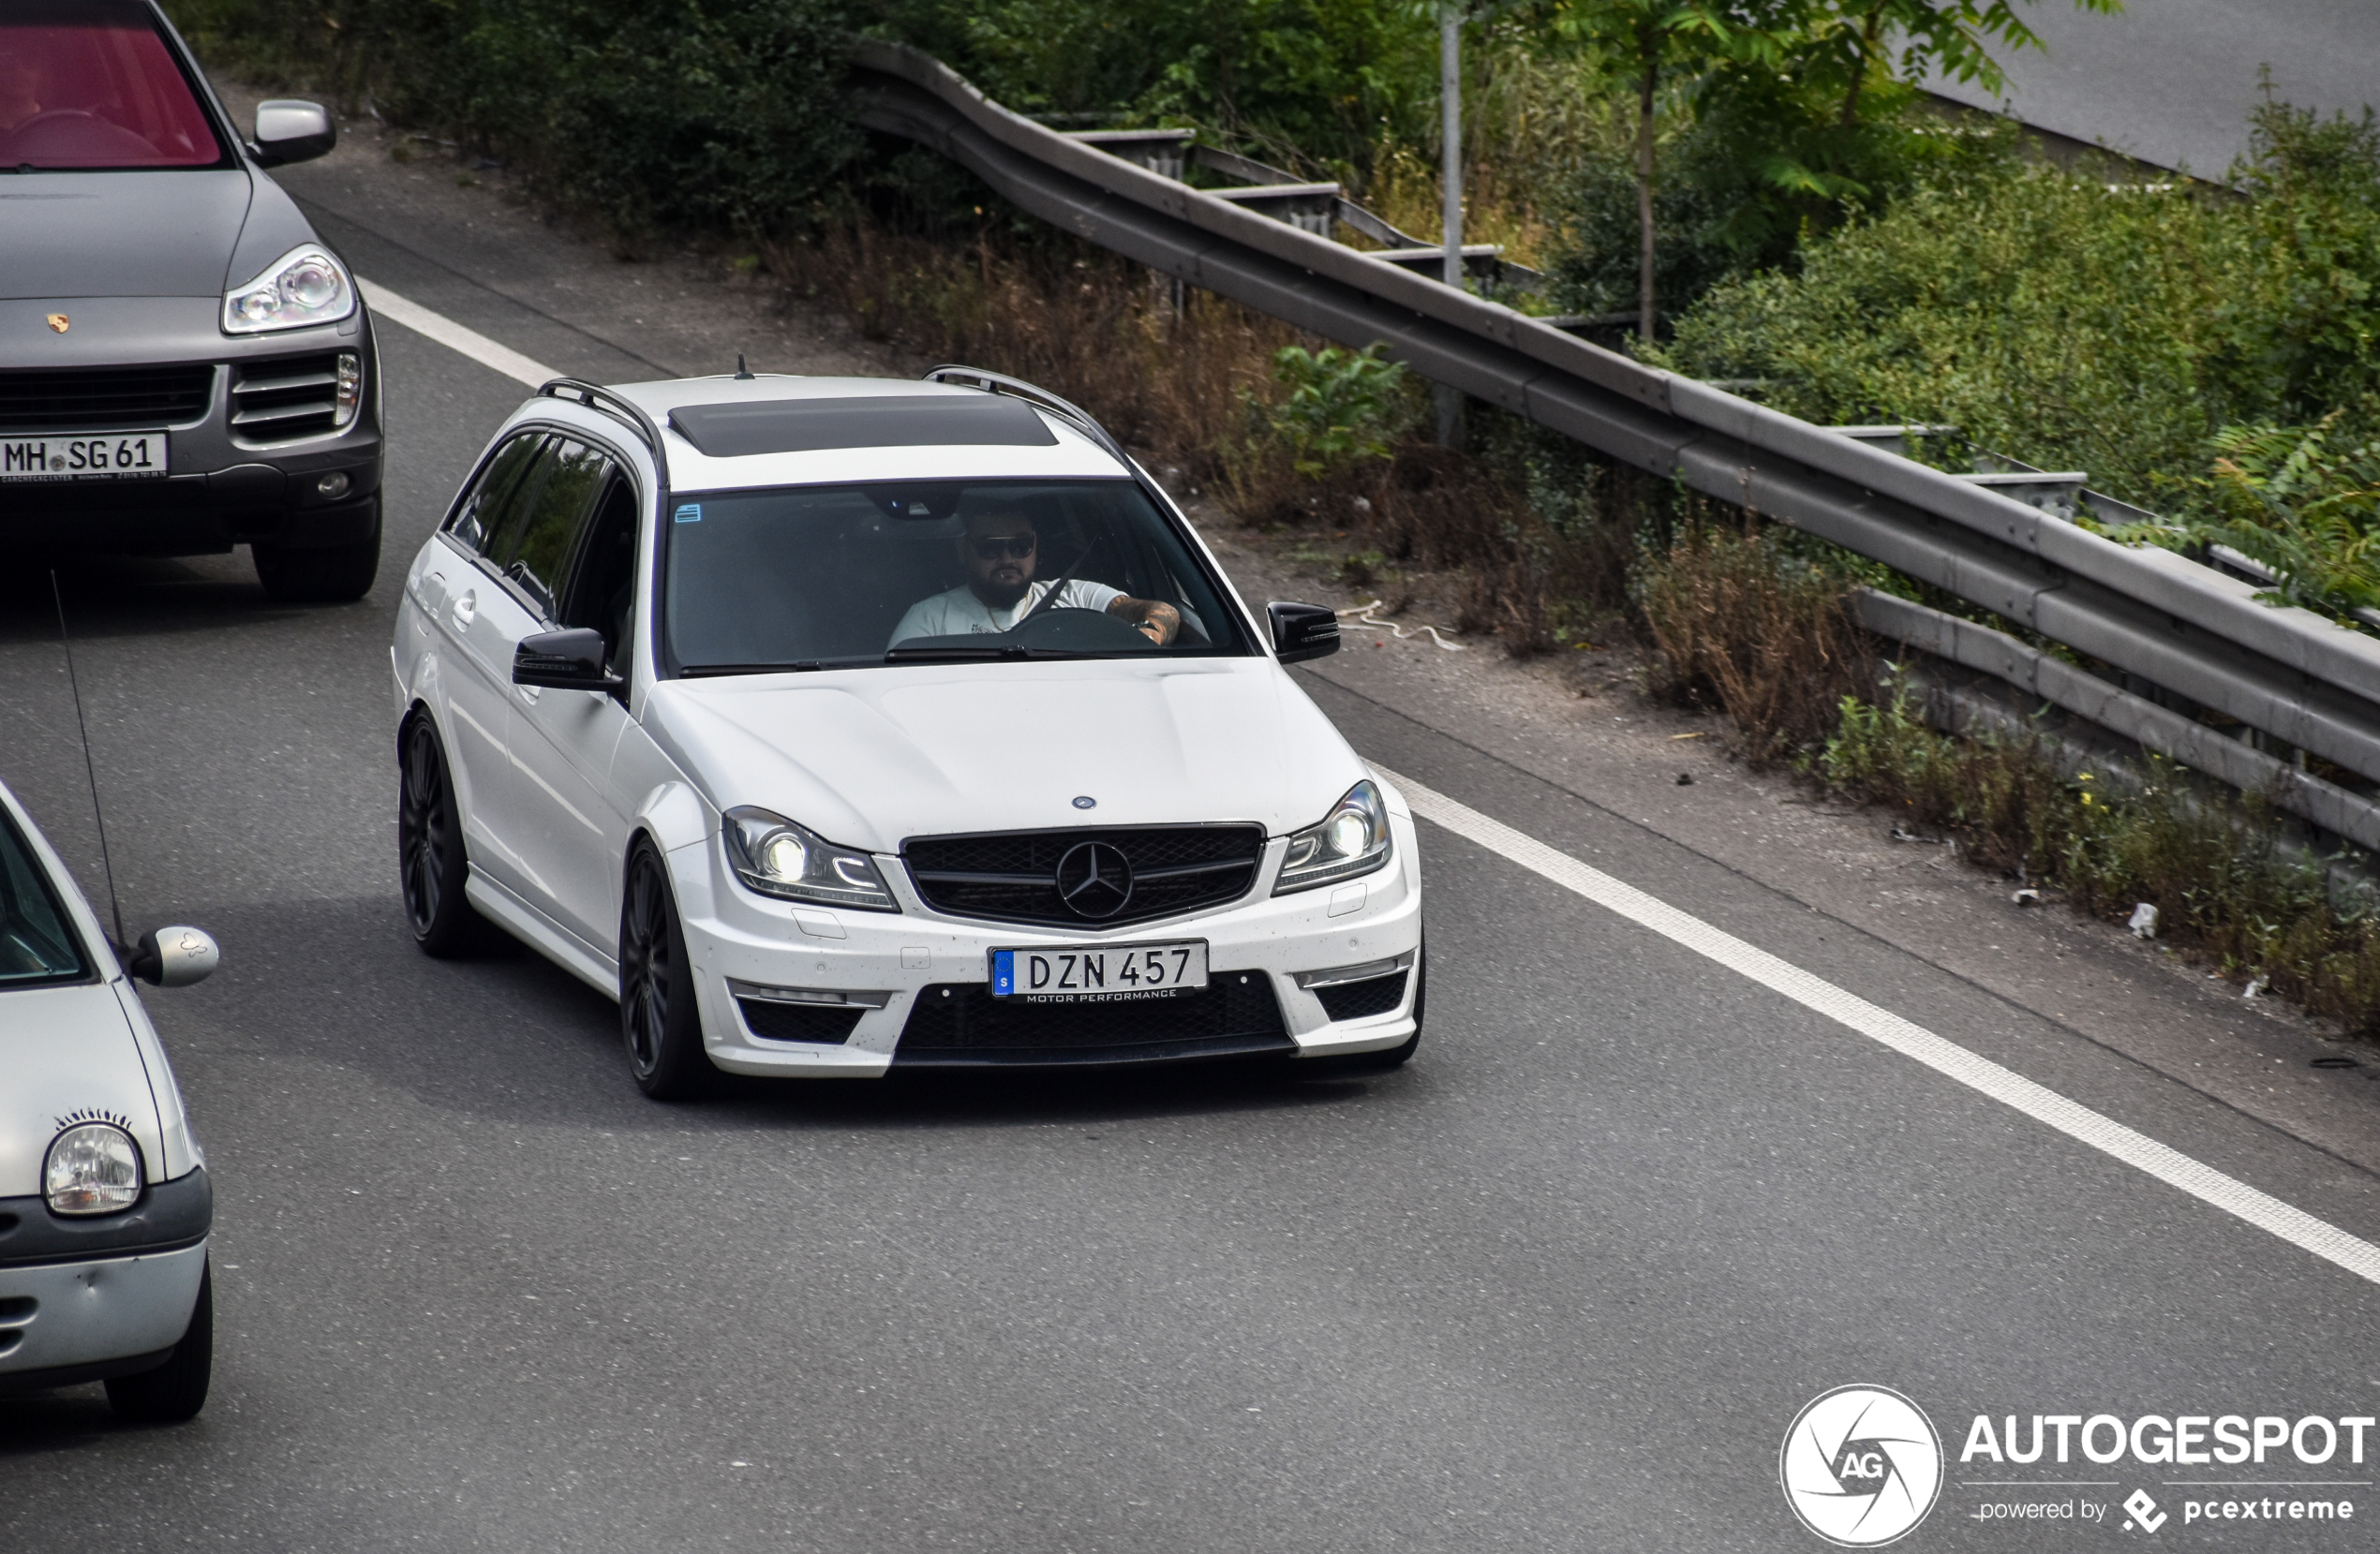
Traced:
<path id="1" fill-rule="evenodd" d="M 443 545 L 424 564 L 416 604 L 436 628 L 440 733 L 447 766 L 462 800 L 464 847 L 490 878 L 516 883 L 514 850 L 495 816 L 500 792 L 512 781 L 505 723 L 512 702 L 512 645 L 505 640 L 505 588 L 493 574 L 488 547 L 519 526 L 545 478 L 550 433 L 524 431 L 505 440 L 478 478 L 455 502 L 440 533 Z"/>

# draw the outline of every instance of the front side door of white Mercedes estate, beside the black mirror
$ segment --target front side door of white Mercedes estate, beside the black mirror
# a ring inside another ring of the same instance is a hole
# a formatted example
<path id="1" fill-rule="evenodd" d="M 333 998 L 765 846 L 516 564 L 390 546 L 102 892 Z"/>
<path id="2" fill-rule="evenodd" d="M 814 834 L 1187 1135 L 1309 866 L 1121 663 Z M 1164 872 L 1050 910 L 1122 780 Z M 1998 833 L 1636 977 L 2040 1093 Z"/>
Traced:
<path id="1" fill-rule="evenodd" d="M 555 588 L 552 624 L 600 631 L 605 662 L 626 676 L 643 497 L 633 476 L 609 457 L 574 478 L 593 488 L 593 516 L 574 545 L 569 581 Z M 538 797 L 519 833 L 536 878 L 547 885 L 538 909 L 605 959 L 616 950 L 621 866 L 628 857 L 628 812 L 609 783 L 612 752 L 626 726 L 624 695 L 516 688 L 507 733 L 514 766 L 526 778 L 524 792 Z"/>

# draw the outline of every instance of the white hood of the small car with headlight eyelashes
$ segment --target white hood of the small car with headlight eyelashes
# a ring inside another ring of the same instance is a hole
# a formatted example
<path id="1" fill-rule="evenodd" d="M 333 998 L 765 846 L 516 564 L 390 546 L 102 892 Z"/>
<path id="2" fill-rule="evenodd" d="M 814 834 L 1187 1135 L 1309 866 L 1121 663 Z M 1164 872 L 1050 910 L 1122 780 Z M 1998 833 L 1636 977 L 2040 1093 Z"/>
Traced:
<path id="1" fill-rule="evenodd" d="M 0 992 L 0 1197 L 40 1192 L 40 1161 L 69 1121 L 124 1126 L 150 1180 L 164 1173 L 157 1097 L 112 988 Z"/>

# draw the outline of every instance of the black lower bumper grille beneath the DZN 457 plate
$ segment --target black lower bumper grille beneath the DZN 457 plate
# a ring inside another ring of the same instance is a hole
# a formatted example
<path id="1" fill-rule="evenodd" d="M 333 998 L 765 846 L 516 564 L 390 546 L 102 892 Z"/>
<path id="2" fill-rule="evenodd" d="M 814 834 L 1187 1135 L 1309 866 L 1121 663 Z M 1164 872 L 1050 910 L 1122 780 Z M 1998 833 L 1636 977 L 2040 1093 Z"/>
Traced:
<path id="1" fill-rule="evenodd" d="M 1026 1004 L 988 983 L 935 983 L 916 995 L 895 1064 L 1107 1064 L 1240 1052 L 1295 1052 L 1273 978 L 1219 971 L 1197 990 L 1114 1004 Z"/>

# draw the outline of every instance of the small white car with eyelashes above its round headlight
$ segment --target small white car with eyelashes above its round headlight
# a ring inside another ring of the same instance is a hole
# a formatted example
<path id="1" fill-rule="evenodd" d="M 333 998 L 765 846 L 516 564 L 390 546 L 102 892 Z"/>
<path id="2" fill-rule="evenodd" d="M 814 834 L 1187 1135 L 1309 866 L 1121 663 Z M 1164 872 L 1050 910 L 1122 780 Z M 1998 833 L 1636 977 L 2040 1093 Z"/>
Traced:
<path id="1" fill-rule="evenodd" d="M 105 1380 L 124 1418 L 190 1418 L 214 1368 L 214 1190 L 126 971 L 214 971 L 198 928 L 119 959 L 0 785 L 0 1395 Z"/>

